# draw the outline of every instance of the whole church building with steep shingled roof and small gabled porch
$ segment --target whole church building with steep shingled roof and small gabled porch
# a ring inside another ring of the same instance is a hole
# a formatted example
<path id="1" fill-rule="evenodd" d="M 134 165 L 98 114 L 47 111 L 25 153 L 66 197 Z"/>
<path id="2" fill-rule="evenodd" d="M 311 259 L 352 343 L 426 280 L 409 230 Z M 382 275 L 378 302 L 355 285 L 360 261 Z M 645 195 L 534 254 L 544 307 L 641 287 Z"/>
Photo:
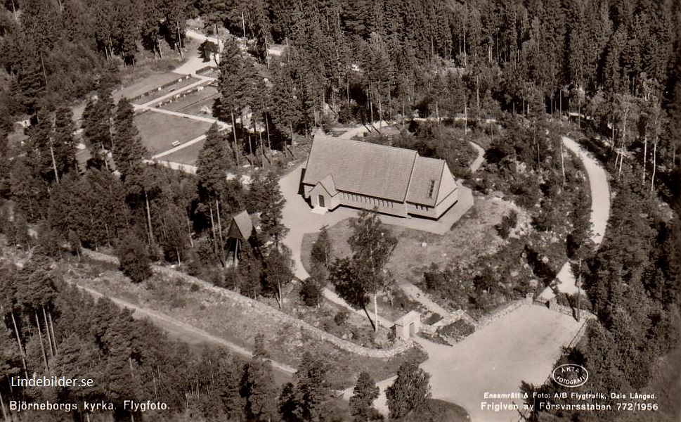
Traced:
<path id="1" fill-rule="evenodd" d="M 438 219 L 458 200 L 444 160 L 416 151 L 315 136 L 302 178 L 313 207 L 377 209 L 383 214 Z"/>

